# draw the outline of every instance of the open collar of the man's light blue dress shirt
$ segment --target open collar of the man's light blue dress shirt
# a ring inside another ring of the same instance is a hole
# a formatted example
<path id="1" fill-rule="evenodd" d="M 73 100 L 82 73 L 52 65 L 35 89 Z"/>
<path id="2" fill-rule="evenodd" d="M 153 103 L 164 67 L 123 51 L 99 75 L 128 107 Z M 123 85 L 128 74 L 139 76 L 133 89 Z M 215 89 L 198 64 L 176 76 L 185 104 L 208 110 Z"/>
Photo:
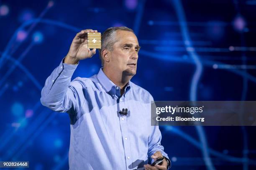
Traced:
<path id="1" fill-rule="evenodd" d="M 121 97 L 120 96 L 120 87 L 115 85 L 103 72 L 103 67 L 100 68 L 100 71 L 97 74 L 97 78 L 100 82 L 100 84 L 105 88 L 106 92 L 111 95 L 112 98 L 116 97 Z M 125 92 L 124 92 L 124 97 L 126 92 L 131 88 L 131 83 L 130 81 L 127 83 L 125 87 Z"/>

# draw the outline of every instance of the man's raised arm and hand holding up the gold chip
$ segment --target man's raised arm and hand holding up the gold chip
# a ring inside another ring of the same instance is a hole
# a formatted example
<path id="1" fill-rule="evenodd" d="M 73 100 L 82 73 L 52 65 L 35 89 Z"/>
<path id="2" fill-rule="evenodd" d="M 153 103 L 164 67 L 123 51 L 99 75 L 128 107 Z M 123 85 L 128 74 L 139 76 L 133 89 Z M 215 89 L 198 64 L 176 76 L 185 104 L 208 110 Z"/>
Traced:
<path id="1" fill-rule="evenodd" d="M 87 32 L 97 32 L 97 30 L 87 29 L 78 32 L 67 56 L 46 79 L 41 91 L 41 103 L 51 110 L 57 112 L 79 110 L 81 100 L 79 100 L 78 91 L 82 89 L 82 84 L 71 83 L 71 77 L 80 60 L 91 58 L 96 53 L 96 49 L 87 48 Z"/>

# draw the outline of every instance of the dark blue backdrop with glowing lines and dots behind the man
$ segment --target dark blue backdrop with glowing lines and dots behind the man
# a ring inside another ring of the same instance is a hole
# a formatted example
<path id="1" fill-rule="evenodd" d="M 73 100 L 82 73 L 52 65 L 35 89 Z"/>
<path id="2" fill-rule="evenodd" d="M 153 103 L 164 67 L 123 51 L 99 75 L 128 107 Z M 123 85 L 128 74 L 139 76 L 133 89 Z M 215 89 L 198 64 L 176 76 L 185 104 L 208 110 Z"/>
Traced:
<path id="1" fill-rule="evenodd" d="M 68 169 L 69 117 L 41 89 L 82 29 L 127 26 L 155 100 L 256 100 L 256 0 L 0 1 L 0 160 Z M 100 69 L 98 52 L 74 77 Z M 255 127 L 160 127 L 172 169 L 255 169 Z"/>

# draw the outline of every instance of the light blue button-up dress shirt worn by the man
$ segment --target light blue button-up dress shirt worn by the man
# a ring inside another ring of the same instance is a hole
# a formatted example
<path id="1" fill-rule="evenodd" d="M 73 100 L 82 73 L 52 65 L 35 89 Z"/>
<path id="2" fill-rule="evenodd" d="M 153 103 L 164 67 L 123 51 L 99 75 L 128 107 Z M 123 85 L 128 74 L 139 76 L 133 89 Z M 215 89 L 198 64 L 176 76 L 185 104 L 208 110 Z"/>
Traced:
<path id="1" fill-rule="evenodd" d="M 129 81 L 121 96 L 102 68 L 97 75 L 71 82 L 76 68 L 61 62 L 41 92 L 44 106 L 69 114 L 70 170 L 144 169 L 158 150 L 168 158 L 159 127 L 151 126 L 154 99 L 147 90 Z M 123 108 L 128 115 L 118 113 Z"/>

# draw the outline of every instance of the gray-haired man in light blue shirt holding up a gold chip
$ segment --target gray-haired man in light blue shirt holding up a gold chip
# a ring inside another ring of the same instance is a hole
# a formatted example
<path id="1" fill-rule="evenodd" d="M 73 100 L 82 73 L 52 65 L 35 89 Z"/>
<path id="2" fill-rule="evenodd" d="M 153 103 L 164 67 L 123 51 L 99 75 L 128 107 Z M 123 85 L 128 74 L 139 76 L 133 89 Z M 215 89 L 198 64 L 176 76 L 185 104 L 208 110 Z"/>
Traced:
<path id="1" fill-rule="evenodd" d="M 102 35 L 99 73 L 70 82 L 79 61 L 96 53 L 87 48 L 87 32 L 97 30 L 77 33 L 41 93 L 44 106 L 69 114 L 69 169 L 166 170 L 170 161 L 160 144 L 161 132 L 151 126 L 154 99 L 130 81 L 140 49 L 136 35 L 126 27 L 108 28 Z M 150 165 L 163 156 L 162 165 Z"/>

